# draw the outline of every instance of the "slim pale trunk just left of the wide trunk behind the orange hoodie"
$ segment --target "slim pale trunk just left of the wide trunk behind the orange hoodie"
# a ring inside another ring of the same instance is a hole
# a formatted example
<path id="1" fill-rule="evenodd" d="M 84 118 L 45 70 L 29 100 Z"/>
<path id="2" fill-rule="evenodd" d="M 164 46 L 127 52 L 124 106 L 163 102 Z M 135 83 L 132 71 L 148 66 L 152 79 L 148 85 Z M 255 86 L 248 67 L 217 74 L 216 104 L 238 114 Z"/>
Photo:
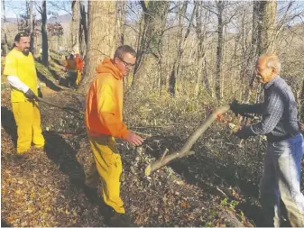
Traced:
<path id="1" fill-rule="evenodd" d="M 79 52 L 79 1 L 72 2 L 72 50 Z"/>

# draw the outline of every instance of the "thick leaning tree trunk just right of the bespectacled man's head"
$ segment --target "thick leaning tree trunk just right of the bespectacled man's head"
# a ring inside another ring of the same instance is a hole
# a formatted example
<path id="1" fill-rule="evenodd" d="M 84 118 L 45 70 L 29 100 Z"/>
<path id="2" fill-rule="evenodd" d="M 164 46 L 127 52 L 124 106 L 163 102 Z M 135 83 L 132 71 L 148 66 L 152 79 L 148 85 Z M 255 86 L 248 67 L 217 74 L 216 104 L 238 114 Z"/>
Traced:
<path id="1" fill-rule="evenodd" d="M 147 3 L 147 5 L 146 5 Z M 143 7 L 143 19 L 137 49 L 137 59 L 134 68 L 134 80 L 132 90 L 136 94 L 143 95 L 149 92 L 149 74 L 152 63 L 161 55 L 161 35 L 166 24 L 168 14 L 168 1 L 141 1 Z"/>

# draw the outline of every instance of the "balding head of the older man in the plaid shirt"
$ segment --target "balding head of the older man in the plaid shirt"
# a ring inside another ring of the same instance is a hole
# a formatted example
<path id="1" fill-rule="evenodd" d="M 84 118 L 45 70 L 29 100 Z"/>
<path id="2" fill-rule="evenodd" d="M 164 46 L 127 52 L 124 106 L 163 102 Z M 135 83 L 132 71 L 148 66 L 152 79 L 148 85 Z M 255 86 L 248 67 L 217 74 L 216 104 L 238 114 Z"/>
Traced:
<path id="1" fill-rule="evenodd" d="M 256 63 L 256 77 L 265 84 L 276 78 L 281 72 L 281 62 L 274 54 L 263 54 Z"/>

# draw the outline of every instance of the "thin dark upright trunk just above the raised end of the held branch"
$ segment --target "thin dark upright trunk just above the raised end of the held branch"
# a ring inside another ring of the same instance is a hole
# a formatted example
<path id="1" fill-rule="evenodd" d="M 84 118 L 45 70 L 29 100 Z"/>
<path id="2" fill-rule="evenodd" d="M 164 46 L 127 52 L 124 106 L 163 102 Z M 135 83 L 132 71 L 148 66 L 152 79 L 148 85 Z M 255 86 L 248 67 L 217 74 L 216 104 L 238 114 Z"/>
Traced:
<path id="1" fill-rule="evenodd" d="M 216 47 L 216 98 L 220 100 L 222 98 L 221 91 L 221 79 L 222 79 L 222 59 L 223 59 L 223 46 L 224 46 L 224 23 L 223 23 L 223 11 L 224 2 L 218 1 L 217 6 L 217 47 Z"/>

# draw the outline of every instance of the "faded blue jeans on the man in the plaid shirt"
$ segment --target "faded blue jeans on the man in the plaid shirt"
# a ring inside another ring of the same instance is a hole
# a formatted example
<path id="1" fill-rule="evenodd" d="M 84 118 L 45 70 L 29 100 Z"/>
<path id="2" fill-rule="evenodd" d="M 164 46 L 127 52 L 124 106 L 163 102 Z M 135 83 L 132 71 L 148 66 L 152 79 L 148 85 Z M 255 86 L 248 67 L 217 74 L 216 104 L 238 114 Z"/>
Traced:
<path id="1" fill-rule="evenodd" d="M 290 224 L 304 226 L 304 196 L 300 192 L 302 134 L 268 143 L 260 183 L 264 226 L 280 226 L 280 197 L 286 206 Z"/>

